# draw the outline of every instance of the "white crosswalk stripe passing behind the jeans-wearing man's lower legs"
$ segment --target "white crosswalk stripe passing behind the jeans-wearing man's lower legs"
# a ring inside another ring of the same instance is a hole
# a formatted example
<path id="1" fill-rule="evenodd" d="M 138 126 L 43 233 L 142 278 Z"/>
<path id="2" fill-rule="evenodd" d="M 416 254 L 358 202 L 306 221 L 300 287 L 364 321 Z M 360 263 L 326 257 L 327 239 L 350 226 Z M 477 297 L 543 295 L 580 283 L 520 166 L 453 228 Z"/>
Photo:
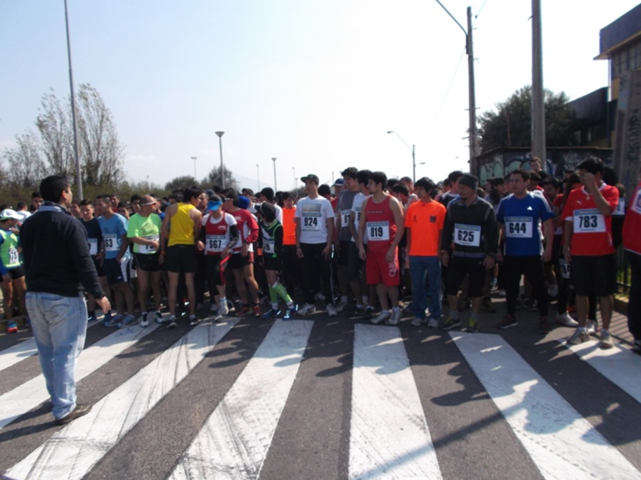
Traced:
<path id="1" fill-rule="evenodd" d="M 76 368 L 76 382 L 101 368 L 115 356 L 136 344 L 158 327 L 157 323 L 147 328 L 133 327 L 116 330 L 111 335 L 80 352 Z M 6 427 L 23 413 L 48 400 L 44 377 L 38 375 L 19 387 L 0 396 L 0 428 Z"/>

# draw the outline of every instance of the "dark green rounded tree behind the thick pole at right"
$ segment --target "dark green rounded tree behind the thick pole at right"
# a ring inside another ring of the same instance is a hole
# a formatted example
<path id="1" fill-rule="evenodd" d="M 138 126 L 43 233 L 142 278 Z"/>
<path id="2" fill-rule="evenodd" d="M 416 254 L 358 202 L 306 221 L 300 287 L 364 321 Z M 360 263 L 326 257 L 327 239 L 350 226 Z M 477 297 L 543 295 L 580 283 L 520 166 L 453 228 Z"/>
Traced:
<path id="1" fill-rule="evenodd" d="M 548 147 L 576 145 L 573 125 L 574 110 L 564 92 L 545 90 L 545 143 Z M 531 145 L 532 89 L 526 85 L 515 91 L 505 102 L 496 104 L 496 111 L 479 115 L 483 131 L 481 149 L 527 147 Z"/>

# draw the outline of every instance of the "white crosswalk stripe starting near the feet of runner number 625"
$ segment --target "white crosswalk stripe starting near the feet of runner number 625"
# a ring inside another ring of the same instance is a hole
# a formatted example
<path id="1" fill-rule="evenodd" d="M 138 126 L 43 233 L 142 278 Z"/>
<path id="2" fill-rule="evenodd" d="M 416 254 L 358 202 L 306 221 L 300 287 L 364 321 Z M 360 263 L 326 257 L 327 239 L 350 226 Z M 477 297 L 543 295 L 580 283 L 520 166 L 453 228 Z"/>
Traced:
<path id="1" fill-rule="evenodd" d="M 545 479 L 641 479 L 500 335 L 450 336 Z"/>

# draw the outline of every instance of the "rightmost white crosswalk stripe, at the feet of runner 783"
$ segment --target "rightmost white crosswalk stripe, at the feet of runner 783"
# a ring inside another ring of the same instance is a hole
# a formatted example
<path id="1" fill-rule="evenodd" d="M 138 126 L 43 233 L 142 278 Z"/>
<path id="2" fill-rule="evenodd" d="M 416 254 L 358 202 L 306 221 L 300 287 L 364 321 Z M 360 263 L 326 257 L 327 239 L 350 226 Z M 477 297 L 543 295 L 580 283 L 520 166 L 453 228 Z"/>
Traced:
<path id="1" fill-rule="evenodd" d="M 599 343 L 592 341 L 566 346 L 610 382 L 641 403 L 640 355 L 619 344 L 614 344 L 614 348 L 607 350 L 600 349 Z"/>

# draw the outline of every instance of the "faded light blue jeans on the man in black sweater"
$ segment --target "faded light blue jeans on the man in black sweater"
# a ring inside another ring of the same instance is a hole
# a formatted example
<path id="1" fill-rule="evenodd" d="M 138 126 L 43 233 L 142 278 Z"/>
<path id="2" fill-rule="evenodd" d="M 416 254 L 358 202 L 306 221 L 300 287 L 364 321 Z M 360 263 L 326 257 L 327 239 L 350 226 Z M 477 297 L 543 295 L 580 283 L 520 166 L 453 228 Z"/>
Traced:
<path id="1" fill-rule="evenodd" d="M 86 304 L 82 297 L 27 292 L 27 310 L 53 417 L 58 420 L 76 406 L 76 358 L 84 347 Z"/>

